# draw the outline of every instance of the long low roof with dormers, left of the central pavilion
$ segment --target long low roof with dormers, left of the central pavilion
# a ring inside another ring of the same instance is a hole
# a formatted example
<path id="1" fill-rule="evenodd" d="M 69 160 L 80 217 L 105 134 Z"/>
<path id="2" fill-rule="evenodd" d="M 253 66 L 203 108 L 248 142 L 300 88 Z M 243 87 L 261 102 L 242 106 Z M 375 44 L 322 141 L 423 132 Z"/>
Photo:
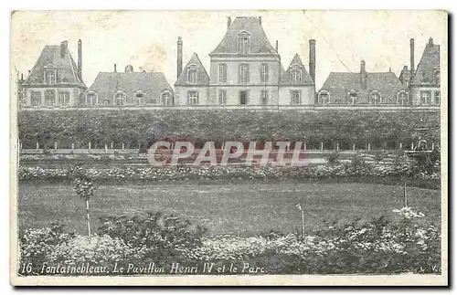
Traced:
<path id="1" fill-rule="evenodd" d="M 160 98 L 164 90 L 173 92 L 170 84 L 160 72 L 100 72 L 88 90 L 96 91 L 101 100 L 112 99 L 117 90 L 127 96 L 143 90 L 146 98 Z"/>

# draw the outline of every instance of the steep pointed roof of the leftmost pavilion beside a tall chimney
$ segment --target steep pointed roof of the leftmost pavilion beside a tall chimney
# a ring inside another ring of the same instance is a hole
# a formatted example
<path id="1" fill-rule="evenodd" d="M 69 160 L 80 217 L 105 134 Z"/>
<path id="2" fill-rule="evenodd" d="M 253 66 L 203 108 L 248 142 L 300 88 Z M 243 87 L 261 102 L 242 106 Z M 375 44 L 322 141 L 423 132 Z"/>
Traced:
<path id="1" fill-rule="evenodd" d="M 69 53 L 69 47 L 66 46 L 64 49 L 64 55 L 61 55 L 61 46 L 59 45 L 47 45 L 41 50 L 41 54 L 35 63 L 35 66 L 30 71 L 25 85 L 37 85 L 44 84 L 45 68 L 57 68 L 57 81 L 58 83 L 69 83 L 78 85 L 80 87 L 86 87 L 84 81 L 78 77 L 78 67 L 74 59 Z"/>

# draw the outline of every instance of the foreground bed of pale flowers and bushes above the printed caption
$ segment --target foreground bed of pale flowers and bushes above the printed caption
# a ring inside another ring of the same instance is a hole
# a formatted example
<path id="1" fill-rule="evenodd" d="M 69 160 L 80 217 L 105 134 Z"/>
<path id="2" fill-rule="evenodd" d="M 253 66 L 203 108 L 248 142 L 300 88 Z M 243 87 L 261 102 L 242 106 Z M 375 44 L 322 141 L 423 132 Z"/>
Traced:
<path id="1" fill-rule="evenodd" d="M 183 274 L 178 266 L 189 266 L 186 274 L 441 273 L 439 229 L 416 222 L 423 215 L 410 208 L 398 213 L 392 222 L 381 216 L 305 237 L 277 232 L 207 237 L 201 227 L 158 214 L 106 217 L 90 238 L 58 226 L 27 229 L 20 234 L 18 272 L 169 275 Z"/>

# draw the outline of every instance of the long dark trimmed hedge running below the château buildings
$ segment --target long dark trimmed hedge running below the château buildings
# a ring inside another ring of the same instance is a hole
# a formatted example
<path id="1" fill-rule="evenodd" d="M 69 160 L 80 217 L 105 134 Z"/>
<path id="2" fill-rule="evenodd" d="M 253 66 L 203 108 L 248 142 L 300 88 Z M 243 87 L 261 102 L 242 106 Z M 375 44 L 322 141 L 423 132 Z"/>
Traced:
<path id="1" fill-rule="evenodd" d="M 372 148 L 404 147 L 416 128 L 428 128 L 427 139 L 440 142 L 440 112 L 430 111 L 22 111 L 18 114 L 23 148 L 60 148 L 104 144 L 138 148 L 154 140 L 200 142 L 303 141 L 310 149 L 341 150 L 352 144 Z M 203 145 L 203 143 L 202 143 Z"/>

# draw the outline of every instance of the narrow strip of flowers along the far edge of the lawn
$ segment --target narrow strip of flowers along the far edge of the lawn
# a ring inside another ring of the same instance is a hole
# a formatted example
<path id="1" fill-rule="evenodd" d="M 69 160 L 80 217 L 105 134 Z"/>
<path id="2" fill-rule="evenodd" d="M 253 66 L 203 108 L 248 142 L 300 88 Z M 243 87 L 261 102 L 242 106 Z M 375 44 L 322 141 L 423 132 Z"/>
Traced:
<path id="1" fill-rule="evenodd" d="M 70 168 L 45 169 L 19 167 L 19 180 L 69 180 Z M 401 178 L 438 181 L 439 171 L 417 172 L 410 163 L 335 164 L 317 166 L 259 166 L 259 165 L 177 165 L 156 167 L 88 168 L 87 174 L 94 181 L 175 181 L 223 179 L 344 179 Z"/>

